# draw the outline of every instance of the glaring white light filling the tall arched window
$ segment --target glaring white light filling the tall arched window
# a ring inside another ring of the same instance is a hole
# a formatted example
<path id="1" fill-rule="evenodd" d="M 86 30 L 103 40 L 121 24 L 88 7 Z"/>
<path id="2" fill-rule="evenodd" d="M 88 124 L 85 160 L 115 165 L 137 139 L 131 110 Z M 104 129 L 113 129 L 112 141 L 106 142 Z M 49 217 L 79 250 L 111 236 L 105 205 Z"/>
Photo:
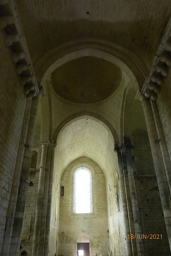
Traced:
<path id="1" fill-rule="evenodd" d="M 76 173 L 76 213 L 90 213 L 90 174 L 84 169 Z"/>

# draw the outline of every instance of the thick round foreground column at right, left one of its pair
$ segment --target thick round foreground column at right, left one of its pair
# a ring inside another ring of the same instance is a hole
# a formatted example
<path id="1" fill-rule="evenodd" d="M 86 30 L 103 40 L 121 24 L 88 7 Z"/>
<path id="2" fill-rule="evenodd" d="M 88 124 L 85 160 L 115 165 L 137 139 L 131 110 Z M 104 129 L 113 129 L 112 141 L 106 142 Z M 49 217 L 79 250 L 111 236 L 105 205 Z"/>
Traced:
<path id="1" fill-rule="evenodd" d="M 167 182 L 167 176 L 165 173 L 165 167 L 163 164 L 163 158 L 159 146 L 159 140 L 157 137 L 157 131 L 153 118 L 153 112 L 151 109 L 151 103 L 149 98 L 141 97 L 145 120 L 147 124 L 147 131 L 149 135 L 149 142 L 151 146 L 151 153 L 153 157 L 157 183 L 159 187 L 159 193 L 161 198 L 161 204 L 163 208 L 163 214 L 165 217 L 165 224 L 167 229 L 167 235 L 169 239 L 169 246 L 171 249 L 171 196 L 169 186 Z"/>

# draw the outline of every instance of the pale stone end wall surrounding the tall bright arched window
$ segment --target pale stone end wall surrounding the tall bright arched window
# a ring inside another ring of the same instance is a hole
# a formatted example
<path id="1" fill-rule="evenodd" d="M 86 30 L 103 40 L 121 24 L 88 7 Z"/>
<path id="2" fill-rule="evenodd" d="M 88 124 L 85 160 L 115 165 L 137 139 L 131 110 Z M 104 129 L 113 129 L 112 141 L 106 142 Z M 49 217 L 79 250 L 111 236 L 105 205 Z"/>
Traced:
<path id="1" fill-rule="evenodd" d="M 73 166 L 79 163 L 90 164 L 94 174 L 94 212 L 90 214 L 73 214 L 72 175 Z M 90 242 L 90 255 L 107 255 L 109 252 L 109 230 L 107 220 L 106 186 L 101 168 L 89 158 L 78 158 L 64 171 L 61 180 L 64 196 L 60 198 L 60 224 L 58 255 L 76 255 L 77 240 L 86 236 Z"/>

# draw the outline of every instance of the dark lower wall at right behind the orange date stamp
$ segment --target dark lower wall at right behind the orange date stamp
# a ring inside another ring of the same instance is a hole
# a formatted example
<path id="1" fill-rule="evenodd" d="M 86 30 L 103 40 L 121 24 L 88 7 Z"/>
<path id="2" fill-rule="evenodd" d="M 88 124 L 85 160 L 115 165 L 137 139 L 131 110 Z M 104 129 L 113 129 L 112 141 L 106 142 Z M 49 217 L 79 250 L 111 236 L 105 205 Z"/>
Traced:
<path id="1" fill-rule="evenodd" d="M 170 255 L 169 241 L 167 238 L 157 180 L 155 177 L 143 177 L 142 175 L 142 177 L 139 176 L 139 178 L 136 179 L 136 186 L 142 235 L 144 234 L 148 237 L 147 239 L 143 239 L 146 254 Z"/>

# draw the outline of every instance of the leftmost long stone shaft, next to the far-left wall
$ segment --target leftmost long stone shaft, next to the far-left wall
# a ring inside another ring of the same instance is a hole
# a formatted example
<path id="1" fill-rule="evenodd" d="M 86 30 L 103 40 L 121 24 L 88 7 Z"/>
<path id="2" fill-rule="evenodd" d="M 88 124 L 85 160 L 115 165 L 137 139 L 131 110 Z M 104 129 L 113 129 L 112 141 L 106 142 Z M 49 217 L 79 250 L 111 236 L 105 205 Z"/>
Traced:
<path id="1" fill-rule="evenodd" d="M 28 132 L 28 124 L 30 119 L 30 111 L 32 106 L 32 100 L 26 102 L 26 108 L 24 112 L 20 143 L 18 147 L 18 154 L 16 158 L 16 166 L 14 170 L 14 177 L 12 182 L 11 194 L 10 194 L 10 202 L 8 206 L 7 218 L 6 218 L 6 230 L 4 232 L 4 240 L 2 244 L 1 255 L 10 254 L 10 244 L 12 239 L 12 230 L 14 224 L 14 217 L 16 212 L 16 204 L 18 198 L 18 189 L 20 185 L 20 176 L 22 170 L 22 162 L 24 158 L 24 144 L 26 143 L 26 136 Z"/>

